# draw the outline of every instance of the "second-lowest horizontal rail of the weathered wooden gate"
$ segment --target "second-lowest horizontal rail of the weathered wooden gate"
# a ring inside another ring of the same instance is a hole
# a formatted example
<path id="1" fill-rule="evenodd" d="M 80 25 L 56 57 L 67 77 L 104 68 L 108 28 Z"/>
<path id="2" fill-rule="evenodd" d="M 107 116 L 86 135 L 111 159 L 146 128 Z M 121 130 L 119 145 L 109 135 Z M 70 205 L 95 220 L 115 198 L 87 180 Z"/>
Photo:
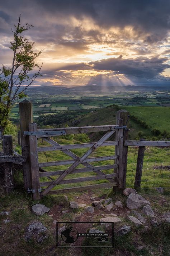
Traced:
<path id="1" fill-rule="evenodd" d="M 117 178 L 118 173 L 114 174 L 104 174 L 104 175 L 98 175 L 98 176 L 89 176 L 89 177 L 83 177 L 83 178 L 74 178 L 74 179 L 68 179 L 68 180 L 61 180 L 59 184 L 70 184 L 70 183 L 77 183 L 77 182 L 84 182 L 84 181 L 91 181 L 91 180 L 104 180 L 109 178 Z M 52 183 L 52 181 L 47 182 L 41 182 L 41 187 L 49 186 Z"/>

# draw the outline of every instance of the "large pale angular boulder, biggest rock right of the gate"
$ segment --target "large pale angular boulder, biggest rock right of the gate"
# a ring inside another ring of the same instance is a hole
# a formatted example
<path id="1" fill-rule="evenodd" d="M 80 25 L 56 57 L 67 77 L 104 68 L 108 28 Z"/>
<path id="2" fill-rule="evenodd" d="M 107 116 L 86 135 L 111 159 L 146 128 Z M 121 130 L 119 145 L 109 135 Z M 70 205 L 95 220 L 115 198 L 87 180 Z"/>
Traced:
<path id="1" fill-rule="evenodd" d="M 150 204 L 150 202 L 146 201 L 145 198 L 135 193 L 131 193 L 128 196 L 126 203 L 129 209 L 138 209 L 143 205 Z"/>

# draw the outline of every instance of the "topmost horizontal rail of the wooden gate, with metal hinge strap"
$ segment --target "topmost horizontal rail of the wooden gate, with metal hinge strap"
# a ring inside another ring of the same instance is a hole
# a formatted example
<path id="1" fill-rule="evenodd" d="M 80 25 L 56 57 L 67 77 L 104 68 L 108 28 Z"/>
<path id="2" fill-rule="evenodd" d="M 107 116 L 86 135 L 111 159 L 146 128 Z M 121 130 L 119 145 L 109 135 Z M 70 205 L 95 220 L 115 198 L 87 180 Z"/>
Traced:
<path id="1" fill-rule="evenodd" d="M 98 131 L 111 131 L 118 125 L 100 125 L 100 126 L 82 126 L 82 127 L 65 127 L 65 128 L 50 128 L 50 129 L 38 129 L 37 131 L 66 131 L 67 134 L 79 134 L 79 133 L 93 133 Z M 38 135 L 38 138 L 49 137 L 55 135 Z"/>

